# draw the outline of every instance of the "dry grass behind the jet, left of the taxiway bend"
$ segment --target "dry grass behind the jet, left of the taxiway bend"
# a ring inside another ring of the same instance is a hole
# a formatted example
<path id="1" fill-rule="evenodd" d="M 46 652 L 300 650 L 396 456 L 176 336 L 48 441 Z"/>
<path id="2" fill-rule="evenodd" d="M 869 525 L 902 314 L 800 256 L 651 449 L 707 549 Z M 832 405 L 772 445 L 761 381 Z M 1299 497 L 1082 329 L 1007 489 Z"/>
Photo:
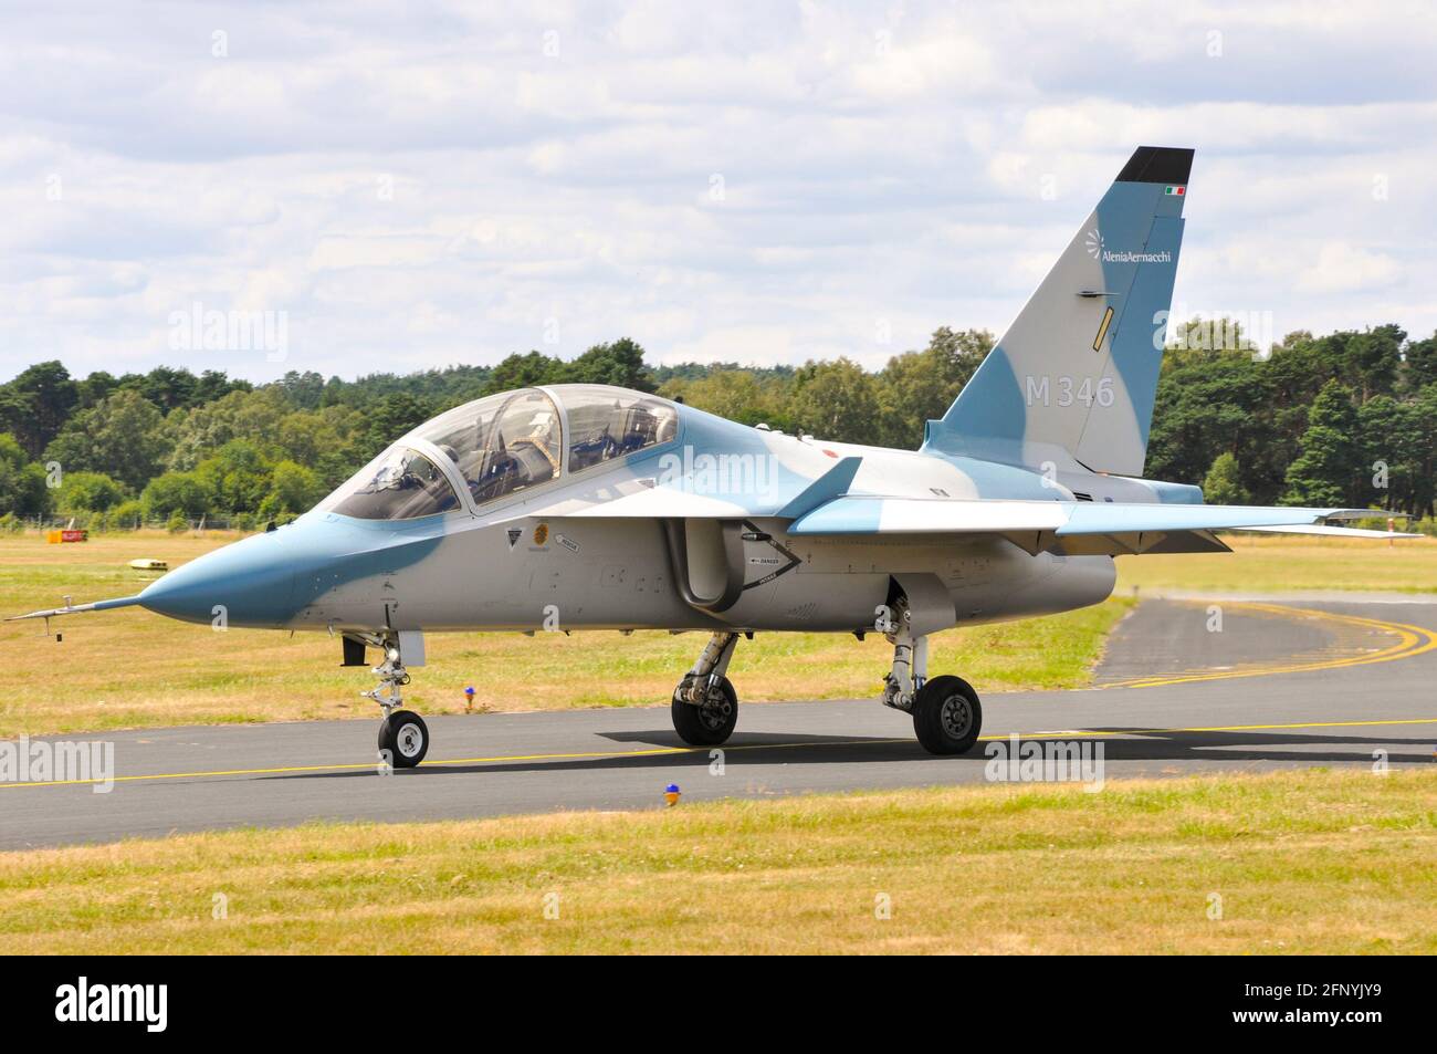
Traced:
<path id="1" fill-rule="evenodd" d="M 46 545 L 36 535 L 0 539 L 0 611 L 137 592 L 137 556 L 171 567 L 227 536 L 99 535 L 85 545 Z M 1108 631 L 1132 607 L 1118 598 L 1062 615 L 935 634 L 930 669 L 961 670 L 984 693 L 1078 687 L 1091 680 Z M 185 723 L 364 718 L 378 713 L 358 692 L 368 670 L 339 669 L 325 634 L 231 630 L 177 623 L 137 608 L 69 615 L 40 637 L 36 623 L 0 624 L 10 692 L 0 736 Z M 665 705 L 703 647 L 703 634 L 667 633 L 433 634 L 428 664 L 405 697 L 424 713 L 464 707 L 464 687 L 494 710 Z M 759 634 L 740 641 L 730 674 L 746 702 L 878 696 L 891 660 L 879 637 Z M 63 669 L 63 677 L 56 676 Z M 513 676 L 522 670 L 523 676 Z"/>

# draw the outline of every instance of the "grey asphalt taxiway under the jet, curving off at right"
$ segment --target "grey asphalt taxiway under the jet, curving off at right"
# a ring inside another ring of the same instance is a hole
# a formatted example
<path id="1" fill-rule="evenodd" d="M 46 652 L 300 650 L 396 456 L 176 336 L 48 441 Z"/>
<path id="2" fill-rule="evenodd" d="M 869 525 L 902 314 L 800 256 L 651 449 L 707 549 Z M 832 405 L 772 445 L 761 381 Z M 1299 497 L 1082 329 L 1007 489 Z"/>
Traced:
<path id="1" fill-rule="evenodd" d="M 741 697 L 740 661 L 733 677 Z M 1147 600 L 1115 631 L 1094 687 L 976 687 L 984 741 L 1102 742 L 1106 779 L 1430 765 L 1437 598 Z M 910 718 L 877 699 L 744 705 L 718 755 L 684 746 L 667 706 L 427 722 L 430 759 L 391 775 L 374 761 L 376 720 L 106 733 L 116 771 L 108 794 L 85 782 L 0 785 L 0 848 L 316 820 L 657 808 L 671 782 L 684 801 L 983 782 L 987 764 L 984 743 L 961 758 L 927 755 Z"/>

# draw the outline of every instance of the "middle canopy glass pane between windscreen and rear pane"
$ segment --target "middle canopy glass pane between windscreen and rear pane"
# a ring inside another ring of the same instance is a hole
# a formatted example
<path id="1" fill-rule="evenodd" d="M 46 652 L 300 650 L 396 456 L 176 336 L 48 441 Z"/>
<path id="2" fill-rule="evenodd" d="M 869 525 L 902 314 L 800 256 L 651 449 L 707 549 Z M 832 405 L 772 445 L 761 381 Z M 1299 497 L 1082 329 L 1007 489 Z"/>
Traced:
<path id="1" fill-rule="evenodd" d="M 559 411 L 535 388 L 461 407 L 424 437 L 458 466 L 476 505 L 559 475 Z"/>

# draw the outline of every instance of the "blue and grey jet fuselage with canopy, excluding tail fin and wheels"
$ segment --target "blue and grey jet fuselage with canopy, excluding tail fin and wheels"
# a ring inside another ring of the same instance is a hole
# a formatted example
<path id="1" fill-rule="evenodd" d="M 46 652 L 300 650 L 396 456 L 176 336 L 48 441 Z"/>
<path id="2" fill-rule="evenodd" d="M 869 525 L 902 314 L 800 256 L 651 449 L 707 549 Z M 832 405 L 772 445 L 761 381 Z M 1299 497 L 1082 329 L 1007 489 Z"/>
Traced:
<path id="1" fill-rule="evenodd" d="M 481 404 L 517 394 L 450 411 L 312 512 L 170 572 L 141 602 L 190 621 L 332 633 L 864 631 L 895 575 L 923 575 L 947 591 L 957 623 L 992 623 L 1105 600 L 1112 558 L 1033 555 L 992 535 L 789 536 L 776 513 L 851 457 L 852 493 L 1174 500 L 1164 485 L 1078 466 L 828 443 L 619 388 L 527 393 L 507 436 L 486 424 L 507 420 L 503 407 Z M 601 431 L 611 398 L 624 423 Z M 384 467 L 395 459 L 402 473 Z M 402 515 L 430 508 L 443 510 Z"/>

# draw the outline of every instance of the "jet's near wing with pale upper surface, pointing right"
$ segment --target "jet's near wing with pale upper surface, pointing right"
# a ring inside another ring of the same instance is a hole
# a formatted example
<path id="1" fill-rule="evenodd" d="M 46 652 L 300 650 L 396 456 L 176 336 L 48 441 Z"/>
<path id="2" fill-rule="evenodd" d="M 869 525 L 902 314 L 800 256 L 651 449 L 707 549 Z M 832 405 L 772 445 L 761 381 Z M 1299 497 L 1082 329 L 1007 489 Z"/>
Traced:
<path id="1" fill-rule="evenodd" d="M 1325 521 L 1372 516 L 1369 509 L 1306 509 L 1160 502 L 1032 502 L 865 498 L 845 495 L 798 518 L 789 535 L 1003 535 L 1030 552 L 1071 555 L 1226 549 L 1213 531 L 1262 531 L 1357 538 L 1413 538 L 1355 531 Z"/>

